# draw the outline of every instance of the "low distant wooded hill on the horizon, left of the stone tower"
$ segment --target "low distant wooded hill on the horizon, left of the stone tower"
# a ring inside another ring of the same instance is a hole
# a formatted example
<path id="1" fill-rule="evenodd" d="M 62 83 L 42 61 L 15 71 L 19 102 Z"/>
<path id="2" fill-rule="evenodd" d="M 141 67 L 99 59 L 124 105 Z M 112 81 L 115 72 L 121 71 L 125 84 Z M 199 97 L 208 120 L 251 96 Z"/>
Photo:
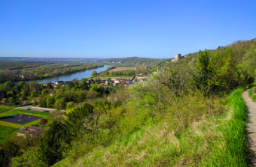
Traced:
<path id="1" fill-rule="evenodd" d="M 100 63 L 104 64 L 123 64 L 123 65 L 129 65 L 129 66 L 135 66 L 135 65 L 145 65 L 150 67 L 159 67 L 163 64 L 169 62 L 170 59 L 154 59 L 154 58 L 138 58 L 138 57 L 128 57 L 128 58 L 108 58 L 104 60 L 100 60 Z"/>

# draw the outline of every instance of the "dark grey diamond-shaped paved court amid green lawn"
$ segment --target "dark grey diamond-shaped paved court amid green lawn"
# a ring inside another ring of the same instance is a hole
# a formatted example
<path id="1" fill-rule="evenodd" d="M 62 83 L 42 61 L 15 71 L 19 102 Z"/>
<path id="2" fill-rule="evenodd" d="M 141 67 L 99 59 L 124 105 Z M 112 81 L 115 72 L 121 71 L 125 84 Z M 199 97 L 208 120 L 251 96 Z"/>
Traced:
<path id="1" fill-rule="evenodd" d="M 17 114 L 0 118 L 0 121 L 11 122 L 13 124 L 28 124 L 29 122 L 36 121 L 42 117 L 34 115 Z"/>

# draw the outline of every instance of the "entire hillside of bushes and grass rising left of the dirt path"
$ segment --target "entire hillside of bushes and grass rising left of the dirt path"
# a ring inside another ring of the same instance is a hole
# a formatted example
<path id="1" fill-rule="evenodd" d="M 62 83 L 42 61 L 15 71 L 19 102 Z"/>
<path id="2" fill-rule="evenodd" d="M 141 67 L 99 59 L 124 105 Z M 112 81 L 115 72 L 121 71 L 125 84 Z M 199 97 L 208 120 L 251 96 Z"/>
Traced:
<path id="1" fill-rule="evenodd" d="M 145 82 L 69 108 L 11 166 L 249 166 L 242 91 L 255 61 L 248 40 L 166 63 Z"/>

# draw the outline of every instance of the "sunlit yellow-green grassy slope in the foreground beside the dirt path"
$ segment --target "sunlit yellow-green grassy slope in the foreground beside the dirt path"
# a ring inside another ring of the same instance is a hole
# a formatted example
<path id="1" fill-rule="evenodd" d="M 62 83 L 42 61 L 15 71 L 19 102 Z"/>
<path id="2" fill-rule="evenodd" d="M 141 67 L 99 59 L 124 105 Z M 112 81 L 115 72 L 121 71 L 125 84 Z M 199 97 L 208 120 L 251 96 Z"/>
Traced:
<path id="1" fill-rule="evenodd" d="M 224 115 L 194 122 L 182 133 L 173 133 L 169 120 L 161 121 L 74 163 L 66 158 L 55 166 L 248 166 L 242 91 L 230 94 Z"/>

